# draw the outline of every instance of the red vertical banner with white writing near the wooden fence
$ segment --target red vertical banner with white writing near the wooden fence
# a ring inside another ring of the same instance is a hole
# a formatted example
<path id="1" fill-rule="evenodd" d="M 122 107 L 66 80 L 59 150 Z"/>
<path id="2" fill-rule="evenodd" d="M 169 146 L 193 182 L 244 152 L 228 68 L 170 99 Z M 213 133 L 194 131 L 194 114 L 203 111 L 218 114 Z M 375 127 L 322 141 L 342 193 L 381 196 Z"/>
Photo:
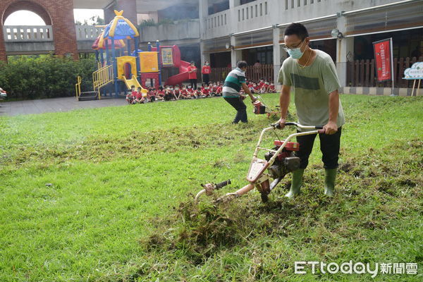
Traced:
<path id="1" fill-rule="evenodd" d="M 377 80 L 392 79 L 391 38 L 373 42 L 374 60 L 376 61 Z"/>

